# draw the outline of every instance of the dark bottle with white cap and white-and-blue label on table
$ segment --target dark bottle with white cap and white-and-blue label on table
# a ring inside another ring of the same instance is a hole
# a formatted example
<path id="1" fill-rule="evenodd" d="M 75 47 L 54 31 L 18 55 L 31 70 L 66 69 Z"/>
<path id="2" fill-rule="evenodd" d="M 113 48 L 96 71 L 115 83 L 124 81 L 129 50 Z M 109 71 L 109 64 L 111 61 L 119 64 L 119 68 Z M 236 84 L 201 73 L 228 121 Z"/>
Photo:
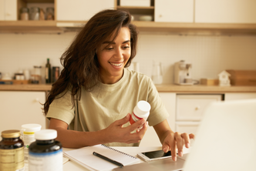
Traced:
<path id="1" fill-rule="evenodd" d="M 62 171 L 62 144 L 56 141 L 57 131 L 35 132 L 35 142 L 29 146 L 29 171 Z"/>

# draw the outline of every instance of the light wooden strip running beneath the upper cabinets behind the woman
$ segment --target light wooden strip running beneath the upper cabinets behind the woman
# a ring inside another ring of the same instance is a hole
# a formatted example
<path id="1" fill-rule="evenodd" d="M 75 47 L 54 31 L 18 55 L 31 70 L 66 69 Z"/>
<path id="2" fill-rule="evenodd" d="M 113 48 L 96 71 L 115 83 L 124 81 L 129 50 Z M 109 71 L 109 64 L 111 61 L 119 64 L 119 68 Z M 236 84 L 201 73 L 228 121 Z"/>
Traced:
<path id="1" fill-rule="evenodd" d="M 77 32 L 84 21 L 0 21 L 0 33 Z M 170 23 L 133 21 L 140 32 L 170 32 L 195 35 L 256 35 L 256 24 Z"/>

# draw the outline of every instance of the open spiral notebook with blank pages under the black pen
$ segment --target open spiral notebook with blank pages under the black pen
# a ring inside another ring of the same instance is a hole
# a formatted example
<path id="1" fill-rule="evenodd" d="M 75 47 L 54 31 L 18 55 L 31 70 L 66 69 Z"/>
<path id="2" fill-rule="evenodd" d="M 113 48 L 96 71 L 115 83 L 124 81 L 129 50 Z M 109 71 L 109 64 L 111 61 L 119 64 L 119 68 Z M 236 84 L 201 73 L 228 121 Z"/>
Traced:
<path id="1" fill-rule="evenodd" d="M 109 146 L 104 146 L 103 144 L 87 146 L 81 149 L 73 149 L 63 154 L 71 161 L 78 163 L 79 165 L 84 166 L 90 170 L 103 171 L 112 170 L 118 167 L 113 163 L 109 163 L 104 159 L 100 159 L 99 157 L 94 156 L 93 152 L 99 153 L 108 157 L 109 159 L 113 159 L 119 163 L 122 163 L 123 166 L 140 163 L 140 159 L 136 158 L 135 156 L 130 156 L 129 154 L 123 153 Z"/>

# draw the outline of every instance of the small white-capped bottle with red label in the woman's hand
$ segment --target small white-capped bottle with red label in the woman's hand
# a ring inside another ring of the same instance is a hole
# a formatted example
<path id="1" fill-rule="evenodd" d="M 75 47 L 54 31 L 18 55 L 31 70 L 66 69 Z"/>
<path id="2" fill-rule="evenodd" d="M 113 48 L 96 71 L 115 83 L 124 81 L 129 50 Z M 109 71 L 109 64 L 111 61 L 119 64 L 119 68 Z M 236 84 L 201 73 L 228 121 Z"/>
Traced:
<path id="1" fill-rule="evenodd" d="M 150 115 L 150 103 L 141 100 L 133 109 L 133 114 L 130 117 L 130 124 L 137 122 L 140 119 L 147 120 L 147 117 Z"/>

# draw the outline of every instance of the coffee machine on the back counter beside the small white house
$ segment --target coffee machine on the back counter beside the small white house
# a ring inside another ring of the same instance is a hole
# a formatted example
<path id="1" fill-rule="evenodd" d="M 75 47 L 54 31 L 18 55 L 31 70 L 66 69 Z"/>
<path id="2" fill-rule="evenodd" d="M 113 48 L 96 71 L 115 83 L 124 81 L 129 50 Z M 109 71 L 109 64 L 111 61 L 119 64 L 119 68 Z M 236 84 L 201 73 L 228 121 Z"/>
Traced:
<path id="1" fill-rule="evenodd" d="M 174 84 L 177 85 L 193 85 L 191 78 L 192 64 L 186 63 L 184 60 L 174 64 Z"/>

